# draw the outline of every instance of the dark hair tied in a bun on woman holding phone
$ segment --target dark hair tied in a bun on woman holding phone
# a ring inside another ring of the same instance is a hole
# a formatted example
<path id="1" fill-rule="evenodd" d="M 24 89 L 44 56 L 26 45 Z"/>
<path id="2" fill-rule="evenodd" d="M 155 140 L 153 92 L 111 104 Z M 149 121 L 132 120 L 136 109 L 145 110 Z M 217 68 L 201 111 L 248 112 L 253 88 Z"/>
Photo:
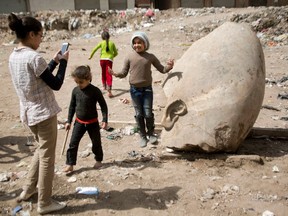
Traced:
<path id="1" fill-rule="evenodd" d="M 10 13 L 8 16 L 9 28 L 15 31 L 16 37 L 19 40 L 26 39 L 29 32 L 34 32 L 38 34 L 42 31 L 43 27 L 41 22 L 39 22 L 34 17 L 23 17 L 22 19 L 17 17 L 15 14 Z"/>

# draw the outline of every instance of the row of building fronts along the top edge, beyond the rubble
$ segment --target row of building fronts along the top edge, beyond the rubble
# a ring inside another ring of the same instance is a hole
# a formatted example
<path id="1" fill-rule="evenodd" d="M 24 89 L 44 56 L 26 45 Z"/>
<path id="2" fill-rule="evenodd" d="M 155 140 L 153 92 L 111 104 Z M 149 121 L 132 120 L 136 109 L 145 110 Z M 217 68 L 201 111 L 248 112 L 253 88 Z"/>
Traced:
<path id="1" fill-rule="evenodd" d="M 34 12 L 40 10 L 125 10 L 134 7 L 248 7 L 284 6 L 288 0 L 1 0 L 0 13 Z"/>

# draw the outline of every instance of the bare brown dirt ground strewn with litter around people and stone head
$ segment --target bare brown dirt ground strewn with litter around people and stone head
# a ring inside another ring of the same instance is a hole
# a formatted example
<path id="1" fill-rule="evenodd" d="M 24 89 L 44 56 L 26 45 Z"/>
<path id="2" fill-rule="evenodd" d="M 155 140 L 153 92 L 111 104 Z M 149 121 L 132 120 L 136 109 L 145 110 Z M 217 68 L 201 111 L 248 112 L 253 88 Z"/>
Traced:
<path id="1" fill-rule="evenodd" d="M 142 30 L 150 39 L 150 52 L 162 62 L 169 58 L 177 61 L 193 42 L 177 31 L 180 25 L 205 26 L 211 20 L 228 20 L 236 10 L 245 13 L 253 9 L 230 9 L 221 14 L 181 19 L 172 14 L 166 22 L 156 22 Z M 125 54 L 131 49 L 130 37 L 131 32 L 111 37 L 119 49 L 113 66 L 115 71 L 121 69 Z M 288 140 L 267 136 L 246 139 L 235 154 L 167 152 L 165 143 L 161 143 L 161 126 L 158 125 L 166 103 L 161 89 L 166 75 L 155 70 L 153 88 L 158 145 L 142 149 L 138 145 L 138 135 L 127 134 L 134 123 L 128 79 L 114 78 L 115 97 L 110 99 L 103 92 L 109 108 L 109 124 L 114 128 L 112 132 L 101 132 L 103 167 L 100 170 L 92 168 L 94 160 L 90 140 L 85 135 L 75 172 L 65 175 L 62 172 L 65 155 L 61 155 L 65 130 L 61 129 L 60 123 L 67 118 L 70 94 L 75 86 L 69 73 L 78 65 L 89 64 L 93 71 L 92 83 L 101 87 L 99 57 L 96 54 L 88 60 L 91 49 L 99 40 L 97 37 L 79 37 L 69 41 L 72 45 L 65 83 L 60 91 L 55 92 L 62 112 L 58 115 L 53 198 L 66 202 L 67 207 L 54 215 L 287 215 Z M 43 42 L 39 51 L 48 61 L 62 42 Z M 28 202 L 19 204 L 15 201 L 21 192 L 35 146 L 31 133 L 19 120 L 19 102 L 8 71 L 8 57 L 15 45 L 0 46 L 0 214 L 11 215 L 14 207 L 20 205 L 22 210 L 17 215 L 37 215 L 37 195 Z M 285 77 L 288 46 L 263 46 L 263 50 L 267 80 Z M 287 128 L 287 102 L 278 97 L 285 93 L 286 87 L 285 82 L 275 85 L 267 81 L 263 102 L 266 108 L 261 109 L 255 127 Z M 128 103 L 124 103 L 125 99 Z M 7 180 L 2 180 L 3 176 L 7 176 Z M 76 187 L 80 186 L 97 187 L 100 194 L 98 197 L 77 194 Z"/>

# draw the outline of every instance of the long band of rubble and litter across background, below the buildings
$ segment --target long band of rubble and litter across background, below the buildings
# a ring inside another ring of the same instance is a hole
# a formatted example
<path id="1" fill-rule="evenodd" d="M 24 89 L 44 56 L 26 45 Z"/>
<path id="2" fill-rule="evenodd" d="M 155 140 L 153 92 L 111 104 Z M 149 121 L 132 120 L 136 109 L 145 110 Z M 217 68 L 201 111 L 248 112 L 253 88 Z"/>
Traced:
<path id="1" fill-rule="evenodd" d="M 153 26 L 157 22 L 177 21 L 181 18 L 209 16 L 230 11 L 229 8 L 178 8 L 170 10 L 155 10 L 153 19 L 147 19 L 145 13 L 147 9 L 135 8 L 124 11 L 118 10 L 79 10 L 79 11 L 39 11 L 32 15 L 39 19 L 45 29 L 44 41 L 57 41 L 71 39 L 75 37 L 94 37 L 101 34 L 103 29 L 108 29 L 112 34 L 120 34 L 126 31 L 133 31 L 145 27 Z M 24 15 L 23 13 L 19 14 Z M 26 15 L 26 14 L 25 14 Z M 0 15 L 1 38 L 12 40 L 11 32 L 7 24 L 8 14 Z M 190 42 L 207 35 L 219 25 L 226 21 L 246 22 L 263 45 L 281 46 L 288 44 L 288 6 L 283 7 L 262 7 L 257 12 L 239 14 L 234 13 L 232 17 L 209 20 L 205 24 L 199 23 L 194 26 L 181 26 L 178 31 L 184 32 Z M 10 36 L 10 37 L 9 37 Z M 4 41 L 5 43 L 10 41 Z"/>

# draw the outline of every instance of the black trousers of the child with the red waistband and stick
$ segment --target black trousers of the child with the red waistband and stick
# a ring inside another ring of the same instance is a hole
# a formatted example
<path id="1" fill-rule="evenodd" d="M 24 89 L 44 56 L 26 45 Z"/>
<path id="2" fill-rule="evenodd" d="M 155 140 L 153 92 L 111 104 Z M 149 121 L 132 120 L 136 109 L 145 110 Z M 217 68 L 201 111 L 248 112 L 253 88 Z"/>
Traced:
<path id="1" fill-rule="evenodd" d="M 82 124 L 75 121 L 69 148 L 67 150 L 67 165 L 76 165 L 79 143 L 86 131 L 88 131 L 88 135 L 92 141 L 92 152 L 95 155 L 95 160 L 100 162 L 103 160 L 99 122 Z"/>

